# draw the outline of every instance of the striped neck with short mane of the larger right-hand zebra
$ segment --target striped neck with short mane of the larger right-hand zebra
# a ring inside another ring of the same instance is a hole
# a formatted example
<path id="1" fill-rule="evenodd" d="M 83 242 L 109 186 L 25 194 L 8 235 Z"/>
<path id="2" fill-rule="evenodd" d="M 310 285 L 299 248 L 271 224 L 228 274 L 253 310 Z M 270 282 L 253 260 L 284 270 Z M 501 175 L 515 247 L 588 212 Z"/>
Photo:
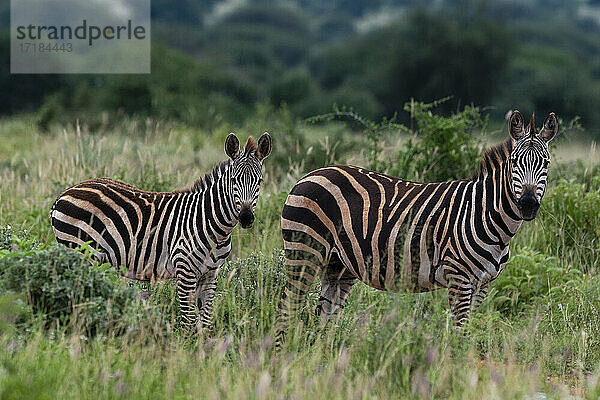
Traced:
<path id="1" fill-rule="evenodd" d="M 478 199 L 484 222 L 498 233 L 503 244 L 508 244 L 522 223 L 511 185 L 511 150 L 510 140 L 488 149 L 473 176 L 474 187 L 480 184 L 484 189 L 484 195 Z"/>

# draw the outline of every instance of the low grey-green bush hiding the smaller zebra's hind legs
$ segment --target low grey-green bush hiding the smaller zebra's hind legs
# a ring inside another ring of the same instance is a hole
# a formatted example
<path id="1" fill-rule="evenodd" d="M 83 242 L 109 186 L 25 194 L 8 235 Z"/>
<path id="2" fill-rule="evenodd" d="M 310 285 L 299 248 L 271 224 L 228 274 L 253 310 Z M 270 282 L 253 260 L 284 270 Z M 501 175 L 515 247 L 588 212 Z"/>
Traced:
<path id="1" fill-rule="evenodd" d="M 58 245 L 28 255 L 12 252 L 0 258 L 0 289 L 24 293 L 33 311 L 45 314 L 47 326 L 56 322 L 88 334 L 119 331 L 132 315 L 136 291 L 90 264 L 89 257 Z"/>

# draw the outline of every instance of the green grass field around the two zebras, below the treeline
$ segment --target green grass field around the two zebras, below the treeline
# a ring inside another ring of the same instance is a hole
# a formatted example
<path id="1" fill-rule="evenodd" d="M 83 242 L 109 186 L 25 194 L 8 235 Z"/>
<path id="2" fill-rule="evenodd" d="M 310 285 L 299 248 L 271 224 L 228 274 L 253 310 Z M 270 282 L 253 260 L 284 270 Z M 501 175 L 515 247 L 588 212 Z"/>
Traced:
<path id="1" fill-rule="evenodd" d="M 25 257 L 38 257 L 40 247 L 47 249 L 43 254 L 59 252 L 48 210 L 69 185 L 94 176 L 151 190 L 187 185 L 225 157 L 227 131 L 124 121 L 118 131 L 57 127 L 41 133 L 26 118 L 0 121 L 0 227 L 11 226 L 9 234 L 0 229 L 0 259 L 16 260 L 11 271 L 18 276 L 20 265 L 32 265 Z M 311 137 L 321 140 L 322 153 L 330 157 L 324 137 L 350 135 L 340 131 L 326 125 L 297 134 L 309 138 L 308 145 L 318 145 Z M 271 133 L 277 147 L 278 136 Z M 364 159 L 344 151 L 338 157 Z M 255 227 L 233 233 L 232 260 L 219 276 L 209 332 L 200 338 L 179 334 L 172 282 L 148 288 L 109 277 L 119 287 L 149 290 L 150 297 L 128 309 L 135 318 L 122 318 L 119 329 L 93 332 L 85 324 L 49 323 L 48 316 L 33 312 L 27 290 L 9 292 L 0 282 L 0 398 L 600 395 L 597 169 L 591 178 L 584 174 L 582 183 L 551 176 L 540 215 L 514 239 L 508 266 L 466 334 L 453 327 L 445 290 L 394 294 L 362 284 L 355 285 L 339 318 L 319 331 L 315 287 L 283 351 L 275 354 L 272 335 L 285 279 L 280 210 L 308 167 L 271 161 L 265 161 Z M 582 174 L 581 167 L 560 168 L 563 177 Z M 48 265 L 62 256 L 51 257 Z"/>

